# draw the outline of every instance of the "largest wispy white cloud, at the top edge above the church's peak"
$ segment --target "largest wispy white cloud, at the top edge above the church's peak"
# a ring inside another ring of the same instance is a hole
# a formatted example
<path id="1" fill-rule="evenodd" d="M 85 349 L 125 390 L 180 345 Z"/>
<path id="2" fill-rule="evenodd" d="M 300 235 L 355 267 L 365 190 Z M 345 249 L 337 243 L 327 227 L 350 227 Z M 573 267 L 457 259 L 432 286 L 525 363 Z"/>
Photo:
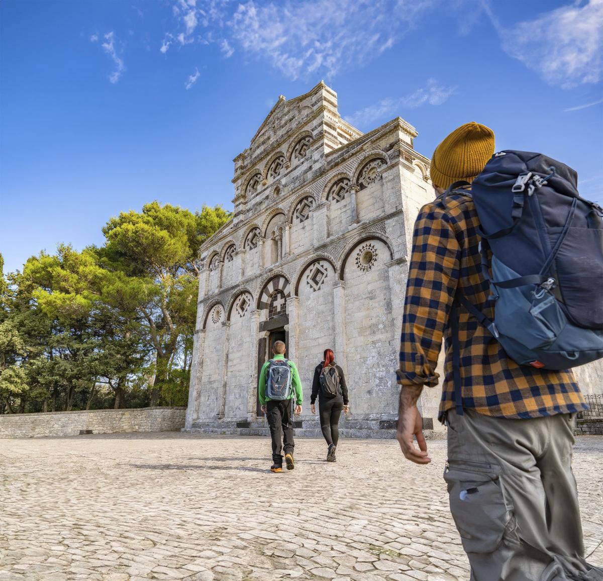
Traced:
<path id="1" fill-rule="evenodd" d="M 291 79 L 335 75 L 392 48 L 439 1 L 176 0 L 168 34 L 181 45 L 217 42 L 226 57 L 236 49 L 267 60 Z M 164 40 L 161 51 L 168 47 Z"/>

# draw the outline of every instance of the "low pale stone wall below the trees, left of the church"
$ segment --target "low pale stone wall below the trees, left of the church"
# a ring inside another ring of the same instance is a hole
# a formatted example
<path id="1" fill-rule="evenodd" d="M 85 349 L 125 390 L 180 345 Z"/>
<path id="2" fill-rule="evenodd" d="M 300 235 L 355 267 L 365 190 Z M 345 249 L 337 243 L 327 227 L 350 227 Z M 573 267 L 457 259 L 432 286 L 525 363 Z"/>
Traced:
<path id="1" fill-rule="evenodd" d="M 165 432 L 185 425 L 186 407 L 48 411 L 0 415 L 0 438 Z"/>

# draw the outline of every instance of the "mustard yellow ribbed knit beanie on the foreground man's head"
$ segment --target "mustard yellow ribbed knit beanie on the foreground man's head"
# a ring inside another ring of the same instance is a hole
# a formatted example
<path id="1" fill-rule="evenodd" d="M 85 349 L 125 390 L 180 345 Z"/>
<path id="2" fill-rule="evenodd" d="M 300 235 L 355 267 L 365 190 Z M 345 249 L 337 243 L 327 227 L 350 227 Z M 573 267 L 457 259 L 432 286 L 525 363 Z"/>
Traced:
<path id="1" fill-rule="evenodd" d="M 494 154 L 494 132 L 472 121 L 450 133 L 435 148 L 431 158 L 431 180 L 446 189 L 458 180 L 472 182 Z"/>

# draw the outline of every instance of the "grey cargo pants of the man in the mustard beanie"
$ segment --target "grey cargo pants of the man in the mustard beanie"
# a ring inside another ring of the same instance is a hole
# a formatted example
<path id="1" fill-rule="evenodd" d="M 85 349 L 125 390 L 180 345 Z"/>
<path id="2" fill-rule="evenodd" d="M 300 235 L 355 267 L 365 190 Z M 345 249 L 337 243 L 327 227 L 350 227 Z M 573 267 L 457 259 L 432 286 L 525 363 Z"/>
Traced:
<path id="1" fill-rule="evenodd" d="M 573 417 L 447 413 L 450 512 L 472 581 L 603 580 L 584 560 Z"/>

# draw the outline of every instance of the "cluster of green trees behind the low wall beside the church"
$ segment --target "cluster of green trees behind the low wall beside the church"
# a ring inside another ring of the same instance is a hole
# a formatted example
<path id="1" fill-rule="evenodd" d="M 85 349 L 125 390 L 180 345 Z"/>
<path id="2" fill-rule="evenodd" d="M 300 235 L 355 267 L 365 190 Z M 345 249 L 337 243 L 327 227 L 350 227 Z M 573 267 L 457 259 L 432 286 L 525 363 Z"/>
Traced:
<path id="1" fill-rule="evenodd" d="M 230 215 L 147 204 L 103 229 L 106 243 L 60 244 L 2 274 L 0 413 L 185 405 L 198 247 Z"/>

